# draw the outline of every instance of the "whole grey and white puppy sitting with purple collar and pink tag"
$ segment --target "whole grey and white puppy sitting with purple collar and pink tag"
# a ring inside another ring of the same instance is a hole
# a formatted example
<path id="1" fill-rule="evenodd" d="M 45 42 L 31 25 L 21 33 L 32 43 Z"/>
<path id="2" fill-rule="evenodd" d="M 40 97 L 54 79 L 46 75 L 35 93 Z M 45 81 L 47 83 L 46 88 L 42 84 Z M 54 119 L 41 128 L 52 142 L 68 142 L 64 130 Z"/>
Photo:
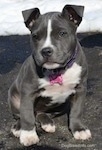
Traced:
<path id="1" fill-rule="evenodd" d="M 17 121 L 11 131 L 24 146 L 39 142 L 36 122 L 46 132 L 55 132 L 52 118 L 64 113 L 75 139 L 91 138 L 80 120 L 87 63 L 76 30 L 83 10 L 83 6 L 66 5 L 61 13 L 41 15 L 38 8 L 23 11 L 25 25 L 31 31 L 32 55 L 11 85 L 8 100 Z"/>

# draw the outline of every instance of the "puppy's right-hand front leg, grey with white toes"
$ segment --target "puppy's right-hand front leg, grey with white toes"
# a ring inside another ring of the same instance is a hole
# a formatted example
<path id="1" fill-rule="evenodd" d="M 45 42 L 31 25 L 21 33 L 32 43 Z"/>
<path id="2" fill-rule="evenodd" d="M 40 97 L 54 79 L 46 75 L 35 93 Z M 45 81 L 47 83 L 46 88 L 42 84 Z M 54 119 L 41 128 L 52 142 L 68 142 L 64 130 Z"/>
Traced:
<path id="1" fill-rule="evenodd" d="M 79 85 L 76 89 L 76 94 L 71 102 L 71 110 L 69 115 L 69 128 L 77 140 L 87 140 L 91 138 L 91 132 L 81 123 L 81 114 L 83 101 L 86 97 L 86 88 Z"/>

